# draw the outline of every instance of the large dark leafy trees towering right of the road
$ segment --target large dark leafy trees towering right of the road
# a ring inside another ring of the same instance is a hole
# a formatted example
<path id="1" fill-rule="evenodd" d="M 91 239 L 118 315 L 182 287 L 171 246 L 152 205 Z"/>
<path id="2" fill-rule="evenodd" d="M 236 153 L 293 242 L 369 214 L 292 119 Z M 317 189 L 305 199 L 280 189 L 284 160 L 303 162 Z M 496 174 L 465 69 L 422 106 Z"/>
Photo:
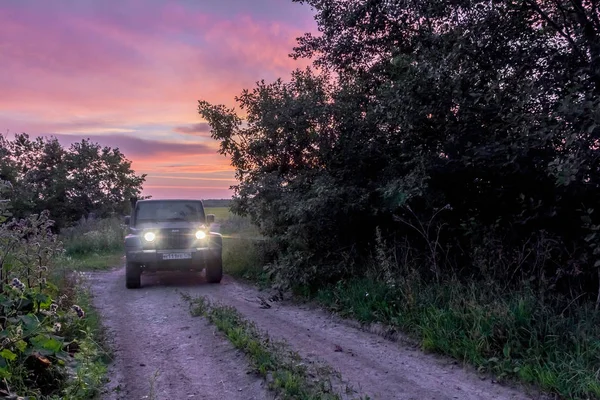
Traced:
<path id="1" fill-rule="evenodd" d="M 396 276 L 595 301 L 598 4 L 303 2 L 320 35 L 293 56 L 317 69 L 243 91 L 245 124 L 199 103 L 276 276 L 318 287 L 383 251 Z"/>

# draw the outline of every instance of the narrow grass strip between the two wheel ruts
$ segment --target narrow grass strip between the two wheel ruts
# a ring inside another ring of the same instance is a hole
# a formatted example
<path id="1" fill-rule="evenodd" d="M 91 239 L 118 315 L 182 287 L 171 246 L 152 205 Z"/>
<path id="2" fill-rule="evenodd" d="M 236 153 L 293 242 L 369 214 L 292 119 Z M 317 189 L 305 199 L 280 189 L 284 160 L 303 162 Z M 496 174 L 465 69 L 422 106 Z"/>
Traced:
<path id="1" fill-rule="evenodd" d="M 328 367 L 318 367 L 291 351 L 285 342 L 273 341 L 257 326 L 246 320 L 235 308 L 212 304 L 206 297 L 182 295 L 190 304 L 194 316 L 203 316 L 214 324 L 227 339 L 242 350 L 254 370 L 267 381 L 269 389 L 283 399 L 341 399 L 332 379 L 339 375 Z M 313 376 L 315 378 L 313 378 Z"/>

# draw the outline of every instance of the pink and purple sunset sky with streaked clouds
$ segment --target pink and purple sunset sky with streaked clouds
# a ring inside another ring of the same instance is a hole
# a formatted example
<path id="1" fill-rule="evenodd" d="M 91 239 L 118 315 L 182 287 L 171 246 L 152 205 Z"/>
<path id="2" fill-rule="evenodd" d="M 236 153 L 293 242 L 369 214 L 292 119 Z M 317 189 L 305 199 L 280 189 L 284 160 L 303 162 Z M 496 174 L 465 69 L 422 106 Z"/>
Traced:
<path id="1" fill-rule="evenodd" d="M 305 32 L 291 0 L 1 0 L 0 132 L 118 147 L 154 198 L 228 198 L 198 100 L 288 79 Z"/>

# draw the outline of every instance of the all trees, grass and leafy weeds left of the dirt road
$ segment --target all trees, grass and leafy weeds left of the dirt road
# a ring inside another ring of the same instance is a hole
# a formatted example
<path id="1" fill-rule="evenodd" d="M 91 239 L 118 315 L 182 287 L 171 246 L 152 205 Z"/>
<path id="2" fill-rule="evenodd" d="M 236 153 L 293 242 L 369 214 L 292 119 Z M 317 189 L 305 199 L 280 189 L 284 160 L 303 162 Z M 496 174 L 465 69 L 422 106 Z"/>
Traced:
<path id="1" fill-rule="evenodd" d="M 0 135 L 0 397 L 97 398 L 110 353 L 87 269 L 120 262 L 145 177 L 118 149 Z"/>

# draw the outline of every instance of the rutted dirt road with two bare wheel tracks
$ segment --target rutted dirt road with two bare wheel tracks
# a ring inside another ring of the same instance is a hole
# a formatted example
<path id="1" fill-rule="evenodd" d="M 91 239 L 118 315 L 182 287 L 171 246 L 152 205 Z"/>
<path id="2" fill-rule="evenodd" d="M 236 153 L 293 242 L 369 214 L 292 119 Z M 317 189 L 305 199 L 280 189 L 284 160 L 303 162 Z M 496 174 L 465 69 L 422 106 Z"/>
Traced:
<path id="1" fill-rule="evenodd" d="M 125 289 L 123 268 L 89 277 L 95 306 L 115 350 L 105 396 L 109 400 L 273 398 L 262 381 L 248 373 L 243 354 L 203 318 L 189 315 L 181 292 L 236 307 L 274 339 L 285 339 L 304 358 L 337 369 L 357 396 L 536 398 L 482 380 L 445 358 L 353 328 L 319 310 L 285 302 L 261 308 L 258 296 L 263 293 L 229 277 L 220 285 L 209 285 L 197 273 L 143 275 L 139 290 Z"/>

